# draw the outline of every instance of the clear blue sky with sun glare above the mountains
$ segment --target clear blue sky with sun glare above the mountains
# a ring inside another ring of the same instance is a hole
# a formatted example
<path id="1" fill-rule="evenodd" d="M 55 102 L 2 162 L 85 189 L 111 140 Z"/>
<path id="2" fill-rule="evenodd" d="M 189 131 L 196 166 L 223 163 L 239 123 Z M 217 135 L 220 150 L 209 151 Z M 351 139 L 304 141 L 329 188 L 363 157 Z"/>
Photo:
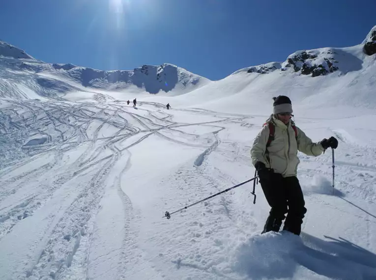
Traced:
<path id="1" fill-rule="evenodd" d="M 362 42 L 375 0 L 2 0 L 0 39 L 51 63 L 172 63 L 211 80 Z"/>

